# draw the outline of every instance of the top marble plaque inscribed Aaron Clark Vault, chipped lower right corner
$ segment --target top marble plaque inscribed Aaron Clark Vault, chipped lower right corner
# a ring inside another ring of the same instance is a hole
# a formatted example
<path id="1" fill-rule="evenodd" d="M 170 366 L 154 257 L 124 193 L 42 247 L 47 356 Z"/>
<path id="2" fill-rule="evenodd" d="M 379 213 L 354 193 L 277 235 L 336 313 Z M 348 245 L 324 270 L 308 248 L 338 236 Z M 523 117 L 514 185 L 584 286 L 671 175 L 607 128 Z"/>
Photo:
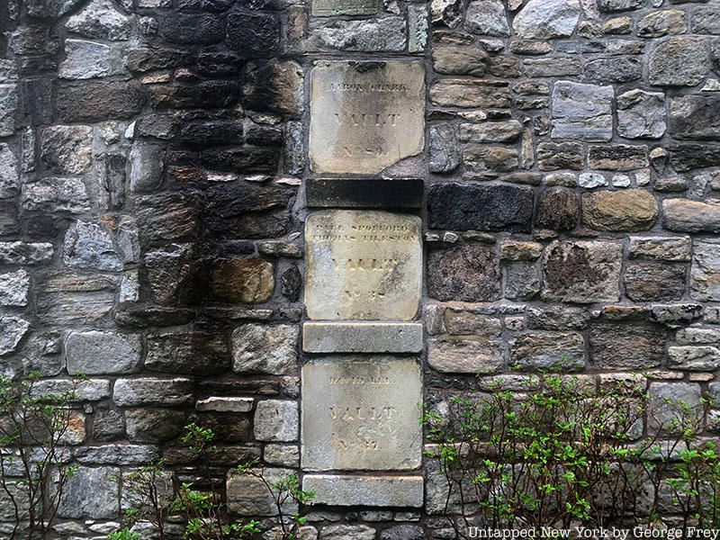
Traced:
<path id="1" fill-rule="evenodd" d="M 318 62 L 311 71 L 312 170 L 375 174 L 419 154 L 424 103 L 420 62 Z"/>

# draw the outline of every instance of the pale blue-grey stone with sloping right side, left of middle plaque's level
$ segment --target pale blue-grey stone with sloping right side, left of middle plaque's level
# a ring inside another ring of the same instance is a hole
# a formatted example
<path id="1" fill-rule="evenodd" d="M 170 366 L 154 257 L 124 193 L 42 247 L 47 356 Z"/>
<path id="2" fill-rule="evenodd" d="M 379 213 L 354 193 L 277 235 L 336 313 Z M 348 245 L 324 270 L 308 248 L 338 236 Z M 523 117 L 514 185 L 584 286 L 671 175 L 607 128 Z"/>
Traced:
<path id="1" fill-rule="evenodd" d="M 76 221 L 67 229 L 63 242 L 63 262 L 67 266 L 103 272 L 122 270 L 110 235 L 100 225 L 85 221 Z"/>

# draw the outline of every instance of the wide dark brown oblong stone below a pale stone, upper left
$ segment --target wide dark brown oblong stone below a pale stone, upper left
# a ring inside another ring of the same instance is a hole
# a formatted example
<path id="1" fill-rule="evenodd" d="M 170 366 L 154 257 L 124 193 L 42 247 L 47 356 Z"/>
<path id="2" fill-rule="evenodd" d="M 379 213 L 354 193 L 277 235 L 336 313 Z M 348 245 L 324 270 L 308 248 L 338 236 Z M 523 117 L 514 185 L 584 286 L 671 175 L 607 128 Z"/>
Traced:
<path id="1" fill-rule="evenodd" d="M 55 106 L 61 121 L 103 121 L 130 118 L 147 101 L 148 92 L 137 81 L 84 82 L 59 86 Z"/>

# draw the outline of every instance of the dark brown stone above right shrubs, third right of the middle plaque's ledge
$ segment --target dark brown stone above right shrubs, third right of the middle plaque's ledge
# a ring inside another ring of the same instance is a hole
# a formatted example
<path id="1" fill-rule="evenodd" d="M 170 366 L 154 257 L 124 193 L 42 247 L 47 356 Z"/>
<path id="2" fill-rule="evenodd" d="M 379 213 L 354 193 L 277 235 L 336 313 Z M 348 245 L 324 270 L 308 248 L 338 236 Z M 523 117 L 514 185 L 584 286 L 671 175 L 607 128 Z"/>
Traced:
<path id="1" fill-rule="evenodd" d="M 640 370 L 662 364 L 667 332 L 657 325 L 594 323 L 590 365 L 598 369 Z"/>

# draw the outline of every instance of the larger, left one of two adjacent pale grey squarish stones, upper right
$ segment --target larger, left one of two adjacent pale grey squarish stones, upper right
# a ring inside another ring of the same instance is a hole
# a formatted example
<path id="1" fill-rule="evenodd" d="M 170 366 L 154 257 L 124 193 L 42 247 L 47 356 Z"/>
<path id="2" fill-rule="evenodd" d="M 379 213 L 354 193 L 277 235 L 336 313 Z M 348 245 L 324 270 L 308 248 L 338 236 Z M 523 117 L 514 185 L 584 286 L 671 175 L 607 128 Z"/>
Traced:
<path id="1" fill-rule="evenodd" d="M 558 81 L 553 90 L 553 139 L 610 140 L 612 86 Z"/>

